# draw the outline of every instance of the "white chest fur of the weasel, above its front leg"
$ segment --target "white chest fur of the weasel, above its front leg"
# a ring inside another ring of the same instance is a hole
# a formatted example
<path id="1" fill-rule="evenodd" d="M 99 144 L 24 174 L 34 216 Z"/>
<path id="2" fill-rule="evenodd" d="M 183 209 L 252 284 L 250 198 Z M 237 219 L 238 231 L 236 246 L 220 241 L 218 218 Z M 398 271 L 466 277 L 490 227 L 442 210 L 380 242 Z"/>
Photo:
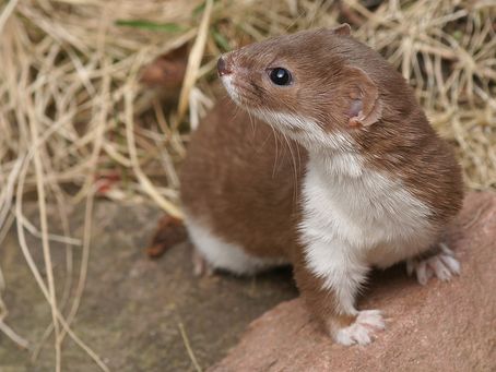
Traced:
<path id="1" fill-rule="evenodd" d="M 310 155 L 303 197 L 305 242 L 339 242 L 349 254 L 370 255 L 370 264 L 389 266 L 433 239 L 429 208 L 399 181 L 364 168 L 353 153 Z M 375 257 L 373 250 L 385 256 Z"/>

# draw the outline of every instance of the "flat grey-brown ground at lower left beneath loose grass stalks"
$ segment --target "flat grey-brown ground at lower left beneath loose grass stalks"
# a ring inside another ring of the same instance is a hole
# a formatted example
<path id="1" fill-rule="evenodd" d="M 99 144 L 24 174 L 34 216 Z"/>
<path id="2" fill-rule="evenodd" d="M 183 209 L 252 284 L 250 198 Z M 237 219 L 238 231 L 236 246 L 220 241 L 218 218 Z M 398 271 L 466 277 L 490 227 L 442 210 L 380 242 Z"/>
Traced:
<path id="1" fill-rule="evenodd" d="M 26 207 L 26 214 L 36 220 L 34 205 Z M 197 278 L 189 243 L 151 261 L 143 249 L 161 215 L 156 208 L 106 201 L 95 206 L 87 284 L 73 328 L 113 371 L 194 370 L 180 324 L 199 364 L 208 368 L 226 355 L 252 320 L 297 296 L 288 269 L 256 278 L 226 274 Z M 82 207 L 71 216 L 75 236 L 82 235 L 83 216 Z M 40 240 L 27 235 L 42 267 Z M 66 248 L 58 243 L 51 248 L 60 298 Z M 50 323 L 49 307 L 27 268 L 14 229 L 0 251 L 7 281 L 2 297 L 10 311 L 5 322 L 36 347 Z M 1 372 L 50 371 L 54 356 L 51 338 L 31 361 L 28 351 L 0 334 Z M 69 337 L 63 344 L 62 367 L 63 371 L 98 370 Z"/>

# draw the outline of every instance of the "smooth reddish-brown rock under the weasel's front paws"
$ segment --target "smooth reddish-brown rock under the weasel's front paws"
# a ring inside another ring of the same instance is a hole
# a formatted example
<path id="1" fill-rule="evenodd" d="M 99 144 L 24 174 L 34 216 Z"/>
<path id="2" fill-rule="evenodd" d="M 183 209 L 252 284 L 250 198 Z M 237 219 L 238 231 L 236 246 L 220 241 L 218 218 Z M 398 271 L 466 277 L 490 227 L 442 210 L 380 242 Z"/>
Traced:
<path id="1" fill-rule="evenodd" d="M 450 283 L 422 287 L 403 265 L 374 275 L 361 309 L 387 329 L 369 346 L 334 345 L 299 299 L 249 326 L 210 371 L 496 371 L 496 194 L 468 195 L 449 244 L 462 265 Z"/>

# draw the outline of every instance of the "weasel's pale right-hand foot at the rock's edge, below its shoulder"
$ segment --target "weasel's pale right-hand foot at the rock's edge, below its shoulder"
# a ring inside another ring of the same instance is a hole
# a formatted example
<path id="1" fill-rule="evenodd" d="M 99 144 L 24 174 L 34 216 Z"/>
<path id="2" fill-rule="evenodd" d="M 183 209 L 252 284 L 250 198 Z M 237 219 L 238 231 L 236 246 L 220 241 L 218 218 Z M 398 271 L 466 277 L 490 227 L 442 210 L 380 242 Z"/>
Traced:
<path id="1" fill-rule="evenodd" d="M 406 273 L 412 275 L 414 272 L 418 283 L 425 286 L 433 276 L 448 281 L 453 275 L 459 275 L 460 263 L 454 257 L 453 251 L 441 243 L 435 254 L 406 261 Z"/>

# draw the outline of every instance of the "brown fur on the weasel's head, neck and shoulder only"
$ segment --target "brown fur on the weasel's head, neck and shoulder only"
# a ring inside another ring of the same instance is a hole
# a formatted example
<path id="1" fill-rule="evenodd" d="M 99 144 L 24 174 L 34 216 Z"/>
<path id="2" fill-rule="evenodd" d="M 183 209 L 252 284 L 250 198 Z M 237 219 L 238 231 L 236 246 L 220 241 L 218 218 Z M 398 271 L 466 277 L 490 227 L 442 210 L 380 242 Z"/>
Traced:
<path id="1" fill-rule="evenodd" d="M 234 84 L 248 109 L 295 113 L 329 132 L 350 133 L 369 166 L 400 179 L 432 207 L 430 218 L 440 225 L 461 208 L 461 168 L 451 148 L 433 130 L 401 74 L 369 47 L 346 33 L 308 31 L 241 48 L 226 56 L 226 62 L 243 67 L 245 76 Z M 271 67 L 294 71 L 295 84 L 273 86 L 265 73 Z M 375 94 L 351 69 L 365 72 L 367 84 L 371 81 L 379 88 L 381 115 L 370 125 L 350 127 L 356 91 L 362 91 L 364 107 L 365 98 Z"/>

